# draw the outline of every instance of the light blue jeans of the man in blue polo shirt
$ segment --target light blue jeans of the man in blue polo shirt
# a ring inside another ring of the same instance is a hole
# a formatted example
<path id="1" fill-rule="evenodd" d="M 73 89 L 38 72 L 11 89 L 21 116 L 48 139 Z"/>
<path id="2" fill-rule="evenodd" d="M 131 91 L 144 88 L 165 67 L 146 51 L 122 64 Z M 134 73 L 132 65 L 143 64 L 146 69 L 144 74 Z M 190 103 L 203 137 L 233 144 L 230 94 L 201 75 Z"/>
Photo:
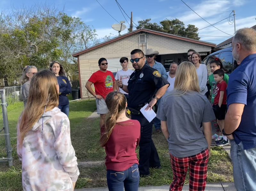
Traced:
<path id="1" fill-rule="evenodd" d="M 244 150 L 242 142 L 230 141 L 230 155 L 233 163 L 233 176 L 237 191 L 256 189 L 256 148 Z"/>

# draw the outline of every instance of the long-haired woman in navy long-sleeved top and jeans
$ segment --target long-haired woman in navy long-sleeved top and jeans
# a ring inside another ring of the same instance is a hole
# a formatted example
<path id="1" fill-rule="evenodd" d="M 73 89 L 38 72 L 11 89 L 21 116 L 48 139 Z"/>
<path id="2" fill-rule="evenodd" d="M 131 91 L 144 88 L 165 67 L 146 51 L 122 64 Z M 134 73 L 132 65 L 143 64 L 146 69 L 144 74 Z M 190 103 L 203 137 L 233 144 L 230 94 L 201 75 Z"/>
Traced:
<path id="1" fill-rule="evenodd" d="M 67 96 L 71 93 L 71 86 L 69 79 L 66 77 L 66 71 L 58 61 L 50 63 L 50 70 L 52 70 L 57 77 L 60 87 L 58 107 L 64 114 L 69 116 L 69 99 Z"/>

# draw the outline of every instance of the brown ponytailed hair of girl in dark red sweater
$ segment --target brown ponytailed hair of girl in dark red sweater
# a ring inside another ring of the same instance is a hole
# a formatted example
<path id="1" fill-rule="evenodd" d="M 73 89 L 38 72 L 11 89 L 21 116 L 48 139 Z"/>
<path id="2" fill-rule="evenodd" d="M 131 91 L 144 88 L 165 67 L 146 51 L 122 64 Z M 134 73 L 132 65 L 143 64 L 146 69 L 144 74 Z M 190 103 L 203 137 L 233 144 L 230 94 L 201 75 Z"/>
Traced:
<path id="1" fill-rule="evenodd" d="M 109 113 L 105 122 L 105 129 L 104 129 L 103 135 L 100 138 L 100 145 L 102 147 L 107 143 L 116 125 L 117 118 L 120 116 L 120 114 L 122 114 L 122 112 L 126 108 L 126 98 L 124 94 L 120 92 L 110 92 L 107 95 L 105 101 L 106 101 L 106 105 L 108 107 Z"/>

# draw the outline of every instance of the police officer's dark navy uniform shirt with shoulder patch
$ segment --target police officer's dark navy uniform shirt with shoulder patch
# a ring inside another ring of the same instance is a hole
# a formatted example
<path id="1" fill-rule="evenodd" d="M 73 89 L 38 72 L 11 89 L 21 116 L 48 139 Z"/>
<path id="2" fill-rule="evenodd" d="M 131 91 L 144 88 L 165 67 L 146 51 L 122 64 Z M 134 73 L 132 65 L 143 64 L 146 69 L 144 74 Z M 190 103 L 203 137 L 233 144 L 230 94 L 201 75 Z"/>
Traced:
<path id="1" fill-rule="evenodd" d="M 137 109 L 139 105 L 148 103 L 155 93 L 169 82 L 160 72 L 146 64 L 140 71 L 133 72 L 128 80 L 128 107 Z"/>

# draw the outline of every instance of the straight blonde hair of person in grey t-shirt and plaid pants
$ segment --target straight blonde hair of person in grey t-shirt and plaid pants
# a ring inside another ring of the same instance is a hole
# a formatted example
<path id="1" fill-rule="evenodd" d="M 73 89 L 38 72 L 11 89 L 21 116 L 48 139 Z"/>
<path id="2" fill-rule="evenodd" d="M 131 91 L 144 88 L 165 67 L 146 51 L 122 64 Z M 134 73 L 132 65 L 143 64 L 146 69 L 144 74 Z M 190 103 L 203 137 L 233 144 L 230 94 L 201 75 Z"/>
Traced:
<path id="1" fill-rule="evenodd" d="M 199 81 L 194 64 L 181 62 L 176 71 L 174 94 L 183 95 L 186 92 L 200 92 Z M 177 93 L 179 92 L 179 93 Z"/>

